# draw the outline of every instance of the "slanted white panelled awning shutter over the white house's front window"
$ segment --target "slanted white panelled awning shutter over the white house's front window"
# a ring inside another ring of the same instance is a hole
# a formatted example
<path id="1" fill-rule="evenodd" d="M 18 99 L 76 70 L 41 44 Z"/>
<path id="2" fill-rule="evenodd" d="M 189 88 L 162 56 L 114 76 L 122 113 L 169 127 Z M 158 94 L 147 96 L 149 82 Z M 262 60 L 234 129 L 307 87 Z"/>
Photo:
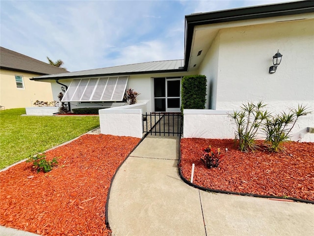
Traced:
<path id="1" fill-rule="evenodd" d="M 128 76 L 73 80 L 62 102 L 122 101 Z"/>

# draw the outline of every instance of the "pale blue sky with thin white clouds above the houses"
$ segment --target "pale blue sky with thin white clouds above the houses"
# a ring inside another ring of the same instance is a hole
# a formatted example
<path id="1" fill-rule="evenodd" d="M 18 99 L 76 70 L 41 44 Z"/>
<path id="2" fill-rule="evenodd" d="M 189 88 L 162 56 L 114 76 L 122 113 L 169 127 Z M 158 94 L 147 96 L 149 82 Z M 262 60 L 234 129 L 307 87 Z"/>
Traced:
<path id="1" fill-rule="evenodd" d="M 69 71 L 183 59 L 184 16 L 287 0 L 0 1 L 0 44 Z"/>

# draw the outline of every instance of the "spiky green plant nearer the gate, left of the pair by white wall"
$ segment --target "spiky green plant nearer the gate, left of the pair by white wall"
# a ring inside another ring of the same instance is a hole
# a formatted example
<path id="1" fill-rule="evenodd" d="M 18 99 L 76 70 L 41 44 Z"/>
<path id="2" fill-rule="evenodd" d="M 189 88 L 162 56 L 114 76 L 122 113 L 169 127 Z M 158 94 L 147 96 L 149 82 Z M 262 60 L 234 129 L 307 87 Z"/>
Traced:
<path id="1" fill-rule="evenodd" d="M 262 101 L 257 104 L 248 102 L 242 104 L 241 111 L 229 114 L 229 117 L 235 121 L 235 140 L 239 142 L 239 150 L 254 151 L 258 148 L 255 141 L 259 128 L 262 122 L 269 117 L 269 113 L 263 110 L 265 106 Z"/>

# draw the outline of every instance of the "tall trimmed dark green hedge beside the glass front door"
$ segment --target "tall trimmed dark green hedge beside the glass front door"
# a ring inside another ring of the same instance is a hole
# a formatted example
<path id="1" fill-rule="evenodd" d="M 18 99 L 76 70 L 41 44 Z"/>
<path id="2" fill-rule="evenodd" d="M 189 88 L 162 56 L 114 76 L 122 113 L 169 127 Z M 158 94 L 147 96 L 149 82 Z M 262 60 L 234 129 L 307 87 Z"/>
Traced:
<path id="1" fill-rule="evenodd" d="M 183 109 L 205 109 L 206 76 L 188 75 L 182 78 L 182 105 Z"/>

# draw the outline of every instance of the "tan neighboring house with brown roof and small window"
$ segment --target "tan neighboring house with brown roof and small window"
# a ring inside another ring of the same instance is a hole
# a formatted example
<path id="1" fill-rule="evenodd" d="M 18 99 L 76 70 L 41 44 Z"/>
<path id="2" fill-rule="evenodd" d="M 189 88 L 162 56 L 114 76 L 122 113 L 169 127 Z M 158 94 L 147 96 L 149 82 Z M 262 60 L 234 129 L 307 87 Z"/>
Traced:
<path id="1" fill-rule="evenodd" d="M 0 47 L 1 107 L 23 108 L 34 106 L 36 100 L 53 101 L 50 83 L 38 83 L 29 79 L 34 76 L 64 72 L 67 71 Z"/>

